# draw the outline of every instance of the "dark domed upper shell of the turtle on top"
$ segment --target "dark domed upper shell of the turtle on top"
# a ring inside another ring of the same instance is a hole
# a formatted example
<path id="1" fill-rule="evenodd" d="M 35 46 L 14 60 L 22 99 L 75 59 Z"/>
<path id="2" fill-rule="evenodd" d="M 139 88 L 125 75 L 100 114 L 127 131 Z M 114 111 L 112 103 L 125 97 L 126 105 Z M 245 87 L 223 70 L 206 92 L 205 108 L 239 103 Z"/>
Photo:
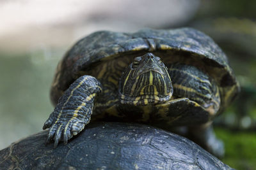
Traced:
<path id="1" fill-rule="evenodd" d="M 220 90 L 220 110 L 239 92 L 239 85 L 225 53 L 209 36 L 200 31 L 191 28 L 142 29 L 134 33 L 99 31 L 79 40 L 58 64 L 51 88 L 52 103 L 56 104 L 63 92 L 79 76 L 90 74 L 98 78 L 98 73 L 93 74 L 93 70 L 102 67 L 102 64 L 111 60 L 131 62 L 134 57 L 147 52 L 161 57 L 164 64 L 191 64 L 209 74 Z M 122 65 L 124 68 L 126 66 L 128 64 Z"/>

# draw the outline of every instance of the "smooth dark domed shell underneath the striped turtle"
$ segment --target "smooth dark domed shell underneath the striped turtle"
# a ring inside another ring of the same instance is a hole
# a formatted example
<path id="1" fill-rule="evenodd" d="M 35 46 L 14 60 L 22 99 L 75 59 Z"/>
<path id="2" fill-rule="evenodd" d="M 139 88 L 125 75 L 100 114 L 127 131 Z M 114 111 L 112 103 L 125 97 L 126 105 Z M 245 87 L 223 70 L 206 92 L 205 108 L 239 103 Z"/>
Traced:
<path id="1" fill-rule="evenodd" d="M 0 151 L 1 169 L 232 169 L 192 141 L 150 125 L 92 122 L 55 150 L 48 130 Z"/>

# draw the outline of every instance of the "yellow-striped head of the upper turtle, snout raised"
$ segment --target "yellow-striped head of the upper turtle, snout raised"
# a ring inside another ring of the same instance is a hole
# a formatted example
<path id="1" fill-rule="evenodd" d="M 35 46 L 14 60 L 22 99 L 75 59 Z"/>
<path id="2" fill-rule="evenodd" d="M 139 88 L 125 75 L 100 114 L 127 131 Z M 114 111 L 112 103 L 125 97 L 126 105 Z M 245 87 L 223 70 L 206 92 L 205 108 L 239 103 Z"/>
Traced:
<path id="1" fill-rule="evenodd" d="M 134 58 L 122 74 L 118 90 L 120 102 L 132 105 L 164 103 L 173 94 L 168 70 L 153 53 Z"/>

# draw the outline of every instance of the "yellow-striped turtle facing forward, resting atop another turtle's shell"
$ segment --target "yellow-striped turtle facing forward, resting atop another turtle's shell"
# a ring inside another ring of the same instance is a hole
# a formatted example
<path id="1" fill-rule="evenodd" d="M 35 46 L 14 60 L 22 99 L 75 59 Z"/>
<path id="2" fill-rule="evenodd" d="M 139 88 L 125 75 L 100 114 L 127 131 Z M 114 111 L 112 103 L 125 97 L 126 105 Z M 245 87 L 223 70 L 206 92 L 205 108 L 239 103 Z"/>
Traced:
<path id="1" fill-rule="evenodd" d="M 56 107 L 43 127 L 49 128 L 46 143 L 67 144 L 91 120 L 137 122 L 170 131 L 184 127 L 209 152 L 223 155 L 212 119 L 238 92 L 227 56 L 203 32 L 97 31 L 58 64 L 51 87 Z"/>

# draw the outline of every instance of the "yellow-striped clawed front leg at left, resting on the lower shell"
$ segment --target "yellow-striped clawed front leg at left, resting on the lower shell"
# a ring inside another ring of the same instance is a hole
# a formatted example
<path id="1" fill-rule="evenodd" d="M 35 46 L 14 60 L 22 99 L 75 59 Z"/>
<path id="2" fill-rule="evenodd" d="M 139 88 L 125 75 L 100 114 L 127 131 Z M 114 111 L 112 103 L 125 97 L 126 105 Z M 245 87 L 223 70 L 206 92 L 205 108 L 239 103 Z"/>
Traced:
<path id="1" fill-rule="evenodd" d="M 66 145 L 68 139 L 81 132 L 90 122 L 93 103 L 97 93 L 102 91 L 99 80 L 92 76 L 81 76 L 64 92 L 43 129 L 49 129 L 46 143 L 54 140 L 54 148 L 60 139 Z"/>

